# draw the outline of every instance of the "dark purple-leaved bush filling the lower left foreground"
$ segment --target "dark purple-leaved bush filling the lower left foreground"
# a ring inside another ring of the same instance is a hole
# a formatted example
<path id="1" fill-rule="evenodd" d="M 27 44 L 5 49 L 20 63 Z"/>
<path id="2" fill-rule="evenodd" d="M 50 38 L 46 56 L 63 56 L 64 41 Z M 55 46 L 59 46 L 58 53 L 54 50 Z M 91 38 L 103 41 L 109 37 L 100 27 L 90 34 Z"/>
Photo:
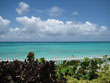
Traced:
<path id="1" fill-rule="evenodd" d="M 0 62 L 0 83 L 61 83 L 53 61 Z"/>

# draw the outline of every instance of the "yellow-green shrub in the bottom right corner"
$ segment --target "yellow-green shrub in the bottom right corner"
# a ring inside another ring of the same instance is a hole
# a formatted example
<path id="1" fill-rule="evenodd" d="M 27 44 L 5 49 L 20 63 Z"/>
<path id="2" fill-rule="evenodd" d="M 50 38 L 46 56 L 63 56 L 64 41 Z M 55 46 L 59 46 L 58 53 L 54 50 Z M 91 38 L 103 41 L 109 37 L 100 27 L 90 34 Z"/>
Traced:
<path id="1" fill-rule="evenodd" d="M 96 72 L 98 74 L 97 79 L 93 80 L 77 80 L 73 76 L 67 76 L 67 83 L 110 83 L 110 65 L 105 65 L 101 72 Z"/>

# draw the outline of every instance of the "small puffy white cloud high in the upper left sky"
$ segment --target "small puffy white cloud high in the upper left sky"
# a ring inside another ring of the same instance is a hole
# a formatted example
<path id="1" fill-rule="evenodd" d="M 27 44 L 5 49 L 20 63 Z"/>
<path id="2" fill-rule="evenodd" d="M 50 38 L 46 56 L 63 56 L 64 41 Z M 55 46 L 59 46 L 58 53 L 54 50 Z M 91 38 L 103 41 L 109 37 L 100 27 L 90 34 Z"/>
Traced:
<path id="1" fill-rule="evenodd" d="M 24 12 L 27 12 L 29 10 L 29 5 L 24 2 L 19 3 L 19 8 L 16 8 L 16 11 L 19 15 L 22 15 Z"/>

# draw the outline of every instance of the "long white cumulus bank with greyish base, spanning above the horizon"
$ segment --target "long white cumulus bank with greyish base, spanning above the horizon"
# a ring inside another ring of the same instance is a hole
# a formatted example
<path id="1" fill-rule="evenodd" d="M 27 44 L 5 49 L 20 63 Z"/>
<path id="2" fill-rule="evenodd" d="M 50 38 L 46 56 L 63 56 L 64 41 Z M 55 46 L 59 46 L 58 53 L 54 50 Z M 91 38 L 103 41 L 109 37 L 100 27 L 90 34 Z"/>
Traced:
<path id="1" fill-rule="evenodd" d="M 10 28 L 8 33 L 2 35 L 4 38 L 74 38 L 76 36 L 105 36 L 110 35 L 106 26 L 98 26 L 97 24 L 86 21 L 61 21 L 56 19 L 42 20 L 39 17 L 27 16 L 17 17 L 16 21 L 21 27 Z M 76 37 L 77 38 L 77 37 Z"/>

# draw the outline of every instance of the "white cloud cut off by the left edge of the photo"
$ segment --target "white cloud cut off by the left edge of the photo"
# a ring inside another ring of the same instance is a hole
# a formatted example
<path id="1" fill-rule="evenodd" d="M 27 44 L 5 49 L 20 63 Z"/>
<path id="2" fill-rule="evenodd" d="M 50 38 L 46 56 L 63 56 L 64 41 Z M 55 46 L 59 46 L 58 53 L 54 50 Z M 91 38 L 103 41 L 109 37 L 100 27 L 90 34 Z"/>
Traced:
<path id="1" fill-rule="evenodd" d="M 5 29 L 10 24 L 10 21 L 7 19 L 4 19 L 2 16 L 0 16 L 0 36 L 5 34 L 7 30 Z"/>

